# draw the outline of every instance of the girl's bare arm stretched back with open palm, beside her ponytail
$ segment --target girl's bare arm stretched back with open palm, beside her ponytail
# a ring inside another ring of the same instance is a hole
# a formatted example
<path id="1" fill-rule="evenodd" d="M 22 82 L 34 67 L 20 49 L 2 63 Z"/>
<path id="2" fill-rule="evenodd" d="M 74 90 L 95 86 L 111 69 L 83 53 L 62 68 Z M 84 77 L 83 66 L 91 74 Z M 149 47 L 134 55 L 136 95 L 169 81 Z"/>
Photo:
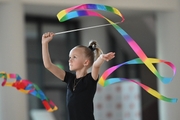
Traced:
<path id="1" fill-rule="evenodd" d="M 109 61 L 111 59 L 113 59 L 115 57 L 115 53 L 114 52 L 109 52 L 107 54 L 101 54 L 98 59 L 93 63 L 92 66 L 92 78 L 94 80 L 98 79 L 99 76 L 99 70 L 101 65 L 104 63 L 104 61 Z"/>

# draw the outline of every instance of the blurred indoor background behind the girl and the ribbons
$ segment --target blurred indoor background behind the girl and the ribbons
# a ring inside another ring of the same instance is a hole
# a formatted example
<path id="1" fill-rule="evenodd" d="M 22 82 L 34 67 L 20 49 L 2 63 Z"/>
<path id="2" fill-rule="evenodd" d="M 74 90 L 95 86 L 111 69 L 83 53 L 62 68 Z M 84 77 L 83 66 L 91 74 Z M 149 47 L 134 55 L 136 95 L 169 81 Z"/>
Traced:
<path id="1" fill-rule="evenodd" d="M 125 21 L 124 29 L 150 58 L 173 62 L 177 74 L 171 84 L 164 85 L 145 65 L 126 65 L 111 77 L 129 78 L 150 86 L 167 97 L 180 97 L 179 38 L 180 0 L 0 0 L 0 71 L 17 73 L 37 84 L 57 106 L 48 113 L 40 99 L 18 92 L 14 88 L 0 87 L 0 120 L 67 120 L 66 84 L 47 71 L 42 62 L 41 36 L 45 32 L 107 24 L 98 17 L 80 17 L 59 22 L 59 11 L 79 4 L 94 3 L 116 7 Z M 113 22 L 121 18 L 101 12 Z M 103 64 L 100 74 L 107 68 L 137 58 L 122 36 L 112 27 L 100 27 L 61 34 L 49 44 L 52 61 L 68 69 L 68 54 L 72 47 L 88 45 L 96 40 L 104 53 L 116 52 L 112 61 Z M 172 77 L 172 70 L 164 64 L 155 64 L 162 76 Z M 2 79 L 3 80 L 3 79 Z M 13 81 L 13 80 L 9 80 Z M 122 82 L 101 87 L 94 98 L 96 120 L 178 120 L 179 103 L 157 100 L 138 85 Z M 50 117 L 50 118 L 48 118 Z"/>

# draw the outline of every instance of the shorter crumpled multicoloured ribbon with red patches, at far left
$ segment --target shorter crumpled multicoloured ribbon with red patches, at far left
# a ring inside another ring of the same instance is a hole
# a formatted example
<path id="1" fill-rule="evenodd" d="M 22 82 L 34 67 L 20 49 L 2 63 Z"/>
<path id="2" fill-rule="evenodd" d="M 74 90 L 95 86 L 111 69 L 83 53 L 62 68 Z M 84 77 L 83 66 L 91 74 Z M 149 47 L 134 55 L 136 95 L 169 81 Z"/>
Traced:
<path id="1" fill-rule="evenodd" d="M 45 94 L 42 92 L 42 90 L 39 89 L 36 84 L 33 84 L 29 80 L 22 79 L 18 74 L 0 72 L 0 78 L 4 79 L 4 81 L 2 82 L 2 86 L 15 87 L 22 93 L 31 94 L 41 99 L 42 104 L 48 112 L 53 112 L 58 109 L 57 106 L 45 96 Z M 8 78 L 16 79 L 16 81 L 7 82 Z"/>

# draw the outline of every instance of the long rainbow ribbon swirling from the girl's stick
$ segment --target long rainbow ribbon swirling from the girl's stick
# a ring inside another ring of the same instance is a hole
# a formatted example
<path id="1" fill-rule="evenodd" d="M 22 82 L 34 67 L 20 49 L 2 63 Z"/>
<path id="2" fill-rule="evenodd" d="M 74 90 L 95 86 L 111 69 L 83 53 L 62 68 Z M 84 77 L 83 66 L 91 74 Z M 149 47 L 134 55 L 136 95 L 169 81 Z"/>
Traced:
<path id="1" fill-rule="evenodd" d="M 157 91 L 151 89 L 150 87 L 148 87 L 148 86 L 146 86 L 140 82 L 137 82 L 135 80 L 130 80 L 130 79 L 126 79 L 126 78 L 110 78 L 110 79 L 107 79 L 107 77 L 112 72 L 114 72 L 117 68 L 119 68 L 122 65 L 125 65 L 125 64 L 145 64 L 149 68 L 149 70 L 158 79 L 161 80 L 161 82 L 163 82 L 164 84 L 168 84 L 172 81 L 172 79 L 176 73 L 176 68 L 171 62 L 168 62 L 165 60 L 159 60 L 159 59 L 155 59 L 155 58 L 148 58 L 146 56 L 146 54 L 143 52 L 143 50 L 140 48 L 140 46 L 120 26 L 118 26 L 116 23 L 112 22 L 111 20 L 109 20 L 108 18 L 103 16 L 102 14 L 96 12 L 97 10 L 111 12 L 113 14 L 116 14 L 122 18 L 121 22 L 123 22 L 125 20 L 123 15 L 121 14 L 121 12 L 118 9 L 111 7 L 111 6 L 102 5 L 102 4 L 81 4 L 81 5 L 77 5 L 74 7 L 70 7 L 70 8 L 67 8 L 67 9 L 60 11 L 57 14 L 57 18 L 60 22 L 64 22 L 66 20 L 77 18 L 77 17 L 82 17 L 82 16 L 96 16 L 96 17 L 103 18 L 103 19 L 107 20 L 119 32 L 119 34 L 122 35 L 122 37 L 126 40 L 126 42 L 129 44 L 129 46 L 132 48 L 132 50 L 139 57 L 139 58 L 124 62 L 122 64 L 119 64 L 119 65 L 116 65 L 116 66 L 113 66 L 113 67 L 107 69 L 103 73 L 103 75 L 100 77 L 99 84 L 102 86 L 107 86 L 107 85 L 110 85 L 113 83 L 117 83 L 117 82 L 127 80 L 127 81 L 131 81 L 131 82 L 138 84 L 140 87 L 142 87 L 148 93 L 150 93 L 151 95 L 153 95 L 154 97 L 156 97 L 160 100 L 163 100 L 166 102 L 172 102 L 172 103 L 177 102 L 177 98 L 167 98 L 167 97 L 161 95 L 160 93 L 158 93 Z M 153 63 L 161 63 L 161 62 L 164 64 L 167 64 L 168 66 L 171 67 L 171 69 L 173 70 L 173 76 L 172 77 L 163 77 L 156 70 Z"/>

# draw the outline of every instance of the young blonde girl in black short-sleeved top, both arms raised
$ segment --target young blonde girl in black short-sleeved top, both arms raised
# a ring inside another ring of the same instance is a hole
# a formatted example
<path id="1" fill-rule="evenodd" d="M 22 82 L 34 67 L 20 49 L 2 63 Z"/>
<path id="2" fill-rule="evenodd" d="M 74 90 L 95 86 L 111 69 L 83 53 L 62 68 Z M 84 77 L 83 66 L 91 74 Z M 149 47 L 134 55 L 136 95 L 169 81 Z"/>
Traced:
<path id="1" fill-rule="evenodd" d="M 69 52 L 69 69 L 75 74 L 64 71 L 51 62 L 48 43 L 55 34 L 44 33 L 42 36 L 42 57 L 46 69 L 60 80 L 67 83 L 66 105 L 68 120 L 95 120 L 93 98 L 99 78 L 99 70 L 104 61 L 115 57 L 114 52 L 103 54 L 96 41 L 89 46 L 78 45 Z M 95 57 L 96 56 L 96 57 Z M 88 73 L 88 69 L 92 71 Z"/>

